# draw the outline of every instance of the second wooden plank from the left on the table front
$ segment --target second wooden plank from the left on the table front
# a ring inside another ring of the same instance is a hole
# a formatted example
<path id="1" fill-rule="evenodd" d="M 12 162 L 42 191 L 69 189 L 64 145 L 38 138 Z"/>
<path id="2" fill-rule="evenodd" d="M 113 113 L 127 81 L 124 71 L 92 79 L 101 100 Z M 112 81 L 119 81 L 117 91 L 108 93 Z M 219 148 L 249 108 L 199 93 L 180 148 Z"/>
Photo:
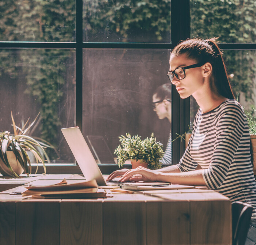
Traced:
<path id="1" fill-rule="evenodd" d="M 60 242 L 60 203 L 16 203 L 16 245 L 56 245 Z"/>

